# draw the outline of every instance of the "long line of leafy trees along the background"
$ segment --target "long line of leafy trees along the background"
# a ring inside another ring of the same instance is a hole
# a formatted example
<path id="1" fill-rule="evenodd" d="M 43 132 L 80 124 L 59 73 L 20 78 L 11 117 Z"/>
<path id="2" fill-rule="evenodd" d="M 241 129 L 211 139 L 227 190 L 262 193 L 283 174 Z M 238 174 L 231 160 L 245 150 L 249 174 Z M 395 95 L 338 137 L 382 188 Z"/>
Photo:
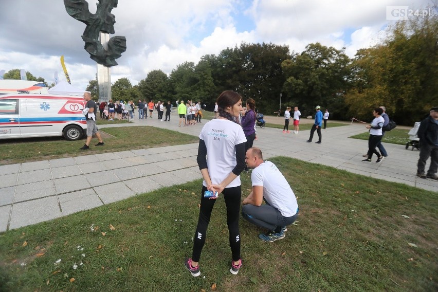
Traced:
<path id="1" fill-rule="evenodd" d="M 352 59 L 344 48 L 320 43 L 298 53 L 289 52 L 286 45 L 242 43 L 217 56 L 205 55 L 197 64 L 179 64 L 169 76 L 152 70 L 134 86 L 121 78 L 112 85 L 113 100 L 190 99 L 212 110 L 223 90 L 234 90 L 244 100 L 253 98 L 265 115 L 298 106 L 307 116 L 320 105 L 333 119 L 369 121 L 372 109 L 384 105 L 391 119 L 412 125 L 438 105 L 438 17 L 431 11 L 424 18 L 388 27 L 385 39 L 359 49 Z M 17 78 L 9 79 L 20 79 L 15 70 Z M 97 99 L 96 80 L 89 81 L 87 90 Z"/>

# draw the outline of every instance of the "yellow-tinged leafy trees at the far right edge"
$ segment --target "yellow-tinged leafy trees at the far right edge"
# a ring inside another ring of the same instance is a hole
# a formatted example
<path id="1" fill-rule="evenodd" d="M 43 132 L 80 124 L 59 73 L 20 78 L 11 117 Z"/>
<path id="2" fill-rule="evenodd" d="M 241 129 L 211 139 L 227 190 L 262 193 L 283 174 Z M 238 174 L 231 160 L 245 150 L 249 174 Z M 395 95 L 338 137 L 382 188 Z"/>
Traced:
<path id="1" fill-rule="evenodd" d="M 350 114 L 370 118 L 385 105 L 397 123 L 412 125 L 438 100 L 438 14 L 399 21 L 380 44 L 359 50 L 352 63 Z"/>

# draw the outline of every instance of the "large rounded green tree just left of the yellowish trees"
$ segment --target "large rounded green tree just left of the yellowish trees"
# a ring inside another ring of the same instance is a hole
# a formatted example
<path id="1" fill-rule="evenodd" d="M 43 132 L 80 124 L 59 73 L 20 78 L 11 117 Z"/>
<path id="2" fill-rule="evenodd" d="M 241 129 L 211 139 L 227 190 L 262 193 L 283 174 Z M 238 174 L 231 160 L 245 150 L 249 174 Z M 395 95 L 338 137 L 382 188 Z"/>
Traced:
<path id="1" fill-rule="evenodd" d="M 301 53 L 282 64 L 286 81 L 283 94 L 300 107 L 303 115 L 313 114 L 316 105 L 330 108 L 332 116 L 345 118 L 343 93 L 349 88 L 350 58 L 344 49 L 309 44 Z"/>

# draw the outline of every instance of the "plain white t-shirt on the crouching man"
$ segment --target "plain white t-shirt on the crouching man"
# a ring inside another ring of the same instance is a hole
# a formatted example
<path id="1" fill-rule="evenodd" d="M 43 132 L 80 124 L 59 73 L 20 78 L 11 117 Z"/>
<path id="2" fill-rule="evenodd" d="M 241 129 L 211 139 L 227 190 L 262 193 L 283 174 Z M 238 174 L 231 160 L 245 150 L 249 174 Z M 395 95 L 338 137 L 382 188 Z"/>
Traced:
<path id="1" fill-rule="evenodd" d="M 269 205 L 285 217 L 297 213 L 298 203 L 294 191 L 278 168 L 270 161 L 261 163 L 251 173 L 252 186 L 263 186 L 263 197 Z"/>

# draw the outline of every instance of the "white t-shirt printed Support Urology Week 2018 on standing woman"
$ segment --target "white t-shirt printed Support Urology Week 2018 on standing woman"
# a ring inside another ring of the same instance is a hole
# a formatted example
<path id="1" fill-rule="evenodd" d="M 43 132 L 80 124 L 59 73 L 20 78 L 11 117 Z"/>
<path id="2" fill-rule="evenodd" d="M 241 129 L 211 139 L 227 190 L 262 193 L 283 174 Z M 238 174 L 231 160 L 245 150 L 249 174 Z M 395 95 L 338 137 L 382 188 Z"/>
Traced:
<path id="1" fill-rule="evenodd" d="M 236 166 L 235 145 L 245 143 L 242 126 L 229 120 L 213 119 L 202 128 L 199 139 L 207 147 L 207 167 L 212 184 L 220 184 Z M 227 188 L 240 186 L 240 176 Z M 207 187 L 205 180 L 203 186 Z"/>

